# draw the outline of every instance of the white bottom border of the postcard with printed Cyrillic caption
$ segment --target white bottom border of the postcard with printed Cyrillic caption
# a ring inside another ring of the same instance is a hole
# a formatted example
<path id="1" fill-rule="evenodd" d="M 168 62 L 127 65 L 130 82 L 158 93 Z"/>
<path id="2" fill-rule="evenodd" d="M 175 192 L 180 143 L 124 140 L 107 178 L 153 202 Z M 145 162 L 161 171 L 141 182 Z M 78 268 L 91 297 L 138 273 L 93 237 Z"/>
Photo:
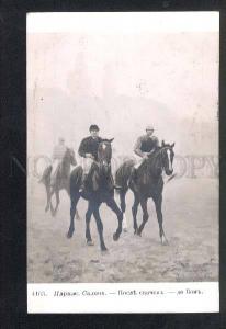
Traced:
<path id="1" fill-rule="evenodd" d="M 93 292 L 104 295 L 92 295 Z M 27 311 L 218 313 L 218 282 L 30 283 Z"/>

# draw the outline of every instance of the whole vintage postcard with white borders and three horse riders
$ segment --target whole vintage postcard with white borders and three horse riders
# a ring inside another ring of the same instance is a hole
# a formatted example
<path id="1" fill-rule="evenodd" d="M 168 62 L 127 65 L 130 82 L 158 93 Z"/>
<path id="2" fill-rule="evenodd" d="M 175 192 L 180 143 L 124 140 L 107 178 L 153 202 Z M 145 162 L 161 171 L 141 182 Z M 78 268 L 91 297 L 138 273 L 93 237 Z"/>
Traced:
<path id="1" fill-rule="evenodd" d="M 27 311 L 217 313 L 218 12 L 26 29 Z"/>

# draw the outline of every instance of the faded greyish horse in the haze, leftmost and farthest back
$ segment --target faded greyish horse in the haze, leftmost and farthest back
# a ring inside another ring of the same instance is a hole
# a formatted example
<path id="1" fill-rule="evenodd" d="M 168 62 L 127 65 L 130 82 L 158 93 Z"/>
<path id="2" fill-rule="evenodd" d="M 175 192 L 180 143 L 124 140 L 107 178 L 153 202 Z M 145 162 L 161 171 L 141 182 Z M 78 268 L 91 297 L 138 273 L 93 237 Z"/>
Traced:
<path id="1" fill-rule="evenodd" d="M 43 183 L 46 188 L 46 196 L 47 196 L 47 203 L 45 207 L 45 212 L 48 212 L 50 208 L 52 216 L 55 216 L 59 206 L 59 191 L 66 190 L 66 192 L 69 193 L 69 177 L 70 177 L 70 166 L 76 166 L 76 157 L 75 151 L 71 148 L 67 148 L 61 163 L 56 169 L 56 179 L 55 183 L 50 184 L 50 173 L 53 170 L 52 166 L 48 166 L 39 180 L 39 183 Z M 53 207 L 52 204 L 52 196 L 55 194 L 56 196 L 56 206 Z M 79 214 L 77 212 L 76 214 L 77 219 L 79 219 Z"/>

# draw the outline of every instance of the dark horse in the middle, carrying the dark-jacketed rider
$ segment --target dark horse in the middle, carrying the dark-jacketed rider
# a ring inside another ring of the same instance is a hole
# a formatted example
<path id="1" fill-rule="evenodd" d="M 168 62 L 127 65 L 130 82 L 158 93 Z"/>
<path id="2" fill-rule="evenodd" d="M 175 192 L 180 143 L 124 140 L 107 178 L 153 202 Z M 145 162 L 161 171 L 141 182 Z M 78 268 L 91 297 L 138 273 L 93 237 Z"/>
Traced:
<path id="1" fill-rule="evenodd" d="M 114 200 L 114 182 L 111 172 L 112 139 L 103 139 L 98 147 L 98 160 L 93 161 L 87 183 L 83 191 L 80 191 L 83 169 L 76 167 L 70 174 L 70 226 L 67 237 L 71 238 L 75 231 L 74 217 L 78 201 L 83 197 L 88 201 L 86 213 L 86 239 L 88 246 L 93 246 L 90 234 L 90 220 L 93 214 L 99 232 L 101 251 L 106 251 L 103 239 L 103 224 L 100 217 L 99 208 L 105 203 L 117 217 L 117 229 L 113 234 L 113 240 L 116 241 L 122 232 L 123 213 Z"/>

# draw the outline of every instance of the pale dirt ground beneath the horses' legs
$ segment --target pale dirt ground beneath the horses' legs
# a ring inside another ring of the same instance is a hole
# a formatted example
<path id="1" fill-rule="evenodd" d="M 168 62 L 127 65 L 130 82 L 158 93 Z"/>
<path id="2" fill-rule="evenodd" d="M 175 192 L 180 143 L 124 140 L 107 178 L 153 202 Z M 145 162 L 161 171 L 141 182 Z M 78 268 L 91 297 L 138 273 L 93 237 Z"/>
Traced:
<path id="1" fill-rule="evenodd" d="M 188 282 L 218 279 L 218 186 L 216 179 L 174 179 L 165 186 L 163 226 L 169 246 L 161 246 L 152 201 L 143 236 L 134 236 L 133 195 L 127 194 L 128 231 L 118 241 L 112 236 L 117 220 L 101 207 L 108 252 L 100 251 L 94 218 L 91 220 L 93 247 L 84 239 L 87 202 L 78 206 L 81 219 L 66 238 L 69 227 L 69 198 L 61 192 L 56 217 L 44 212 L 44 186 L 33 181 L 27 211 L 29 282 Z M 117 197 L 116 197 L 117 201 Z M 138 222 L 142 212 L 138 212 Z"/>

